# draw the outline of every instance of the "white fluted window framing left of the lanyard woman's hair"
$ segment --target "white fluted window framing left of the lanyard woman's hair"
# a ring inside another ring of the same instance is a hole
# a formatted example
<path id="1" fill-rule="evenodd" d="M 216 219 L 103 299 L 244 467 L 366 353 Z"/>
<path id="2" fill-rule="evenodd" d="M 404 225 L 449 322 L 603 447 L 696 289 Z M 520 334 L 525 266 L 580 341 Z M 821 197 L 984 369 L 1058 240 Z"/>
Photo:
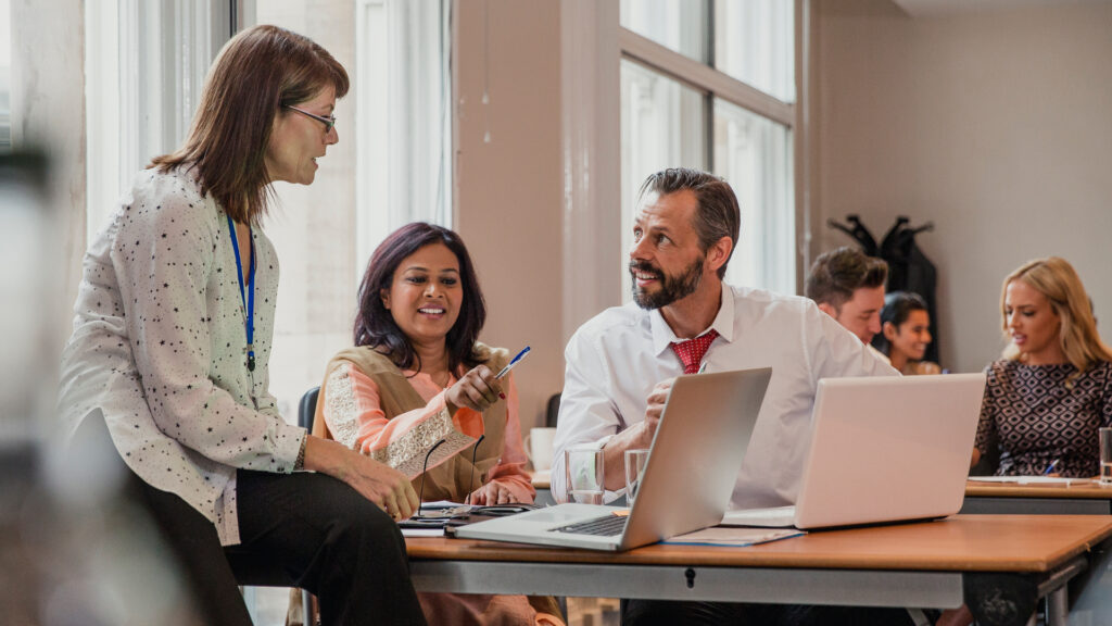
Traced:
<path id="1" fill-rule="evenodd" d="M 132 177 L 185 141 L 236 0 L 86 3 L 87 243 Z"/>

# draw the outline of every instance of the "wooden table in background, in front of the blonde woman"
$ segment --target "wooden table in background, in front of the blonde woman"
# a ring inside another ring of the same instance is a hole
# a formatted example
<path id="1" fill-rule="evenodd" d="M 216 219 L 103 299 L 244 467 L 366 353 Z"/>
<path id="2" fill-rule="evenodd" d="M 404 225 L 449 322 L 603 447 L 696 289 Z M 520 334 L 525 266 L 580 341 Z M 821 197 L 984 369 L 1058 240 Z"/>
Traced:
<path id="1" fill-rule="evenodd" d="M 965 483 L 962 513 L 1110 515 L 1112 487 L 1099 482 L 1017 485 L 1014 482 Z"/>

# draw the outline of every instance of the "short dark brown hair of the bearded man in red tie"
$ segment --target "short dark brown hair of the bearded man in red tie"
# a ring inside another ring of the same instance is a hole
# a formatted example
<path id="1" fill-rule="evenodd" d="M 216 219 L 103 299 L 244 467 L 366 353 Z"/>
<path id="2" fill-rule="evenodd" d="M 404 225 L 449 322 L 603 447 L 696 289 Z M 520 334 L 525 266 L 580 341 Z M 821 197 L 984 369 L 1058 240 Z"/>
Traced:
<path id="1" fill-rule="evenodd" d="M 742 223 L 737 196 L 734 195 L 729 183 L 698 169 L 673 167 L 649 175 L 642 183 L 637 197 L 638 199 L 643 198 L 649 192 L 666 196 L 684 189 L 691 189 L 698 200 L 693 226 L 698 233 L 702 251 L 705 253 L 722 237 L 729 237 L 729 256 L 726 257 L 722 267 L 718 267 L 718 277 L 723 278 L 726 276 L 726 265 L 729 264 L 729 257 L 734 255 Z"/>

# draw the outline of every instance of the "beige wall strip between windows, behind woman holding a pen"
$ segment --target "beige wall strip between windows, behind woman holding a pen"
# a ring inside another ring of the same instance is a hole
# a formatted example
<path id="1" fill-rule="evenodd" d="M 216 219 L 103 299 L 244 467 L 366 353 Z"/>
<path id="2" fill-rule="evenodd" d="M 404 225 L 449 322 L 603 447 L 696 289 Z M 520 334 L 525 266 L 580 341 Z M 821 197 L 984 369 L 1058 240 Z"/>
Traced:
<path id="1" fill-rule="evenodd" d="M 458 4 L 455 225 L 486 294 L 481 339 L 533 346 L 514 370 L 527 432 L 564 384 L 559 2 L 486 0 L 486 20 Z"/>

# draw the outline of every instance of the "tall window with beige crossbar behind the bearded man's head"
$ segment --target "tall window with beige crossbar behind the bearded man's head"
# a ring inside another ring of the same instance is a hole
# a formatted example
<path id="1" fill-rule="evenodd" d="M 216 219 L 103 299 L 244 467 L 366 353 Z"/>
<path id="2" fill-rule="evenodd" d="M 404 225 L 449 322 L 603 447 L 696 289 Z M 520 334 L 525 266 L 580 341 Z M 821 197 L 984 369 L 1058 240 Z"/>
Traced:
<path id="1" fill-rule="evenodd" d="M 729 182 L 742 209 L 726 281 L 796 291 L 793 6 L 622 1 L 624 250 L 646 176 L 674 166 L 707 169 Z"/>

